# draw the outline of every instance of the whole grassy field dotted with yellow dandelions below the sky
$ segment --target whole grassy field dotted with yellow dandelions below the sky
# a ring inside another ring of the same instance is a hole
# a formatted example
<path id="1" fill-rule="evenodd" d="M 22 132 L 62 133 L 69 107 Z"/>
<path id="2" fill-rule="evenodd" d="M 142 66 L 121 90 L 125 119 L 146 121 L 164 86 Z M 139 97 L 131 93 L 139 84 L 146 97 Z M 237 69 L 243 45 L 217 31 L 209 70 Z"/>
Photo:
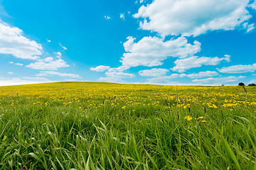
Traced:
<path id="1" fill-rule="evenodd" d="M 256 88 L 0 87 L 1 169 L 256 169 Z"/>

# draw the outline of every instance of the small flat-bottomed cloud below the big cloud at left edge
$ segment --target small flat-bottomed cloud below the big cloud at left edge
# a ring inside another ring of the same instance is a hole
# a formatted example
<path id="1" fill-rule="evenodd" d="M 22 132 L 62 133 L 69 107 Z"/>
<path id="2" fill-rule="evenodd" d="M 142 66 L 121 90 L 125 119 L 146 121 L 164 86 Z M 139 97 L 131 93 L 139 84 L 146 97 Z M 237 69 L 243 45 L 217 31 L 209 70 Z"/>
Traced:
<path id="1" fill-rule="evenodd" d="M 37 62 L 28 64 L 26 67 L 30 67 L 31 69 L 57 70 L 61 67 L 69 67 L 69 65 L 61 59 L 54 60 L 53 57 L 47 57 L 44 60 L 38 60 Z"/>

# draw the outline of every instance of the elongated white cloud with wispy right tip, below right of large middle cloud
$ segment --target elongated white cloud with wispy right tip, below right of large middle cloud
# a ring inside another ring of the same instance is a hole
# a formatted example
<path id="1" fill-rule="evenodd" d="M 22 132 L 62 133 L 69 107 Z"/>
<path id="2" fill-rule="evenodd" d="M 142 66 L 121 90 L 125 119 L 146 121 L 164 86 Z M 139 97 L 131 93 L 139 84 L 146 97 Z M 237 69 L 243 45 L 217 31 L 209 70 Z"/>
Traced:
<path id="1" fill-rule="evenodd" d="M 230 62 L 230 56 L 225 55 L 223 58 L 193 56 L 176 60 L 174 62 L 176 66 L 172 68 L 172 70 L 176 72 L 185 72 L 188 69 L 201 67 L 202 65 L 218 65 L 223 60 Z"/>

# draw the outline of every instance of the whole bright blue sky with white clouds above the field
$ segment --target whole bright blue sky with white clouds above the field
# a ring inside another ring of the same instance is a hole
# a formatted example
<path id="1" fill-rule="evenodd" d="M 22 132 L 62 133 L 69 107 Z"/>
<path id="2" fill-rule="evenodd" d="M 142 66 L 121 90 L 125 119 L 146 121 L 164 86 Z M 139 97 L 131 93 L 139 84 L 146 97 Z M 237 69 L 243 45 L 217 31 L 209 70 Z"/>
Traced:
<path id="1" fill-rule="evenodd" d="M 256 84 L 250 0 L 0 0 L 0 86 Z"/>

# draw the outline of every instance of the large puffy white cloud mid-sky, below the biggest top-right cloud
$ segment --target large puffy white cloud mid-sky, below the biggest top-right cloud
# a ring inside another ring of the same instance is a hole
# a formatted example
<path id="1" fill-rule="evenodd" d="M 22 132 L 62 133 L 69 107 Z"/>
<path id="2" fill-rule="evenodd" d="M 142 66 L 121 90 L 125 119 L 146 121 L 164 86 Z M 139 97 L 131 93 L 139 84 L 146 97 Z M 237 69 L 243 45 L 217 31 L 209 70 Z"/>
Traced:
<path id="1" fill-rule="evenodd" d="M 153 67 L 163 64 L 167 57 L 188 57 L 193 56 L 201 50 L 201 43 L 194 41 L 194 45 L 188 43 L 184 37 L 176 40 L 163 42 L 156 37 L 144 37 L 139 42 L 134 42 L 135 38 L 128 37 L 124 42 L 122 65 L 124 67 L 137 67 L 139 65 Z"/>

